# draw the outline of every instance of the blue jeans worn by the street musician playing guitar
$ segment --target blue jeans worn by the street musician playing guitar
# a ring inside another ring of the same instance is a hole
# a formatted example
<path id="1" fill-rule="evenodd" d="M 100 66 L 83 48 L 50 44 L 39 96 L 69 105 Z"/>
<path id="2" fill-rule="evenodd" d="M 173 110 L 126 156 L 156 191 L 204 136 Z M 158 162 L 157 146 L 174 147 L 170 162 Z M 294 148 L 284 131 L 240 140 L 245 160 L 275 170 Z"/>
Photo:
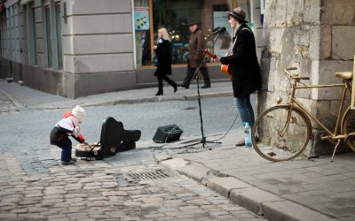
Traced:
<path id="1" fill-rule="evenodd" d="M 234 97 L 234 104 L 241 115 L 243 126 L 248 122 L 250 127 L 253 127 L 255 118 L 253 107 L 250 103 L 250 95 L 244 97 Z"/>

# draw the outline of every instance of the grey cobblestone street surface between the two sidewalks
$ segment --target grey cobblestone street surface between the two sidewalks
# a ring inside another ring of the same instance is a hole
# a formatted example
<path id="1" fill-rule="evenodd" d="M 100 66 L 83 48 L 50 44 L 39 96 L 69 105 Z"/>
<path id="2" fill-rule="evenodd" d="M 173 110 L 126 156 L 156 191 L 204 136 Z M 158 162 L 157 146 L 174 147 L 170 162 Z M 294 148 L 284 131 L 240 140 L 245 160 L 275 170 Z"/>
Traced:
<path id="1" fill-rule="evenodd" d="M 217 111 L 223 114 L 217 110 L 216 102 L 221 103 L 221 99 L 203 101 L 208 109 L 207 131 L 215 133 L 225 130 L 223 125 L 234 117 L 214 124 Z M 229 99 L 225 102 L 229 103 Z M 103 161 L 78 160 L 75 165 L 62 166 L 60 149 L 49 145 L 48 133 L 64 110 L 26 108 L 3 93 L 0 103 L 0 121 L 4 126 L 0 142 L 1 220 L 262 219 L 193 179 L 158 164 L 154 154 L 163 152 L 162 149 L 134 149 Z M 99 139 L 100 124 L 106 116 L 122 118 L 126 126 L 142 129 L 138 148 L 152 139 L 159 124 L 169 124 L 181 114 L 185 116 L 181 118 L 185 134 L 199 134 L 195 106 L 193 101 L 86 108 L 86 138 Z M 145 115 L 141 115 L 141 110 L 145 110 Z M 231 110 L 233 106 L 224 111 Z M 211 114 L 214 117 L 209 117 Z M 156 122 L 158 117 L 160 123 Z M 158 171 L 166 176 L 127 179 L 130 174 Z"/>

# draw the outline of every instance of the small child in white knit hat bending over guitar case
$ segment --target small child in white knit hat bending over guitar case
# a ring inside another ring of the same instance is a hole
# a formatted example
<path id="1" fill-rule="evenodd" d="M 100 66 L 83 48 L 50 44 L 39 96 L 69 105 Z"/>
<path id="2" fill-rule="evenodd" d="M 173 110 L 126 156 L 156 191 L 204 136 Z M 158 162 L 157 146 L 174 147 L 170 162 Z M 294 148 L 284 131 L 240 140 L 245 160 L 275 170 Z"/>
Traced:
<path id="1" fill-rule="evenodd" d="M 64 113 L 62 119 L 51 130 L 51 145 L 58 146 L 61 150 L 61 164 L 75 164 L 76 159 L 72 158 L 72 141 L 68 138 L 71 135 L 76 141 L 84 143 L 82 134 L 85 110 L 76 106 L 73 110 Z"/>

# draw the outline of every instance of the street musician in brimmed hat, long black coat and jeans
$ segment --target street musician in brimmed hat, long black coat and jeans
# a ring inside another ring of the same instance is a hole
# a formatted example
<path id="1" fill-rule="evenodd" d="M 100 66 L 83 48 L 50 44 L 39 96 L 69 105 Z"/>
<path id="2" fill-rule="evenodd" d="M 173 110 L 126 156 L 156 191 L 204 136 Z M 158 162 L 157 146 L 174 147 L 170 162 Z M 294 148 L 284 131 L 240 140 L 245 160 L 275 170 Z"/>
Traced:
<path id="1" fill-rule="evenodd" d="M 261 73 L 256 57 L 255 37 L 246 24 L 248 21 L 245 20 L 245 15 L 241 7 L 228 12 L 228 22 L 235 30 L 233 53 L 230 56 L 217 57 L 215 61 L 220 61 L 223 65 L 232 65 L 234 103 L 241 115 L 243 125 L 248 122 L 252 127 L 255 117 L 250 103 L 250 94 L 261 88 Z M 244 139 L 236 144 L 236 146 L 244 145 Z"/>

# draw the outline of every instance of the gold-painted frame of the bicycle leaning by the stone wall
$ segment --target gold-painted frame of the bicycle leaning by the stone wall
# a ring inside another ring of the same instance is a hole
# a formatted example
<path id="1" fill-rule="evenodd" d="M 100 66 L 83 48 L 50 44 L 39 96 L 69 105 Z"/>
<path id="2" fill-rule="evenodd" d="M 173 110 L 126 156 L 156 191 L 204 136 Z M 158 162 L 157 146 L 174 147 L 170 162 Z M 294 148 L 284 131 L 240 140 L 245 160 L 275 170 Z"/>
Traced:
<path id="1" fill-rule="evenodd" d="M 304 86 L 304 87 L 298 87 L 297 83 L 300 82 L 300 79 L 293 79 L 294 82 L 292 83 L 292 88 L 291 88 L 291 95 L 289 96 L 288 99 L 288 105 L 290 106 L 290 110 L 292 110 L 292 108 L 294 107 L 295 103 L 296 106 L 302 111 L 304 112 L 304 114 L 309 117 L 312 118 L 321 128 L 323 128 L 325 131 L 327 131 L 328 135 L 327 136 L 322 136 L 320 139 L 325 140 L 325 139 L 329 139 L 329 140 L 340 140 L 340 139 L 346 139 L 348 137 L 348 134 L 339 134 L 338 133 L 338 128 L 340 126 L 341 123 L 341 117 L 342 117 L 342 113 L 343 113 L 343 105 L 345 102 L 345 96 L 346 96 L 346 92 L 350 91 L 351 85 L 349 83 L 349 80 L 343 80 L 343 84 L 329 84 L 329 85 L 309 85 L 309 86 Z M 295 94 L 296 94 L 296 90 L 297 89 L 309 89 L 309 88 L 336 88 L 336 87 L 342 87 L 343 88 L 343 95 L 342 95 L 342 100 L 341 100 L 341 104 L 338 110 L 338 115 L 336 118 L 336 125 L 334 128 L 334 132 L 332 132 L 327 126 L 325 126 L 324 124 L 322 124 L 318 118 L 316 118 L 309 110 L 307 110 L 306 108 L 304 108 L 304 106 L 298 102 L 296 100 Z M 288 127 L 288 124 L 290 122 L 290 116 L 291 111 L 289 111 L 288 113 L 288 119 L 287 119 L 287 125 L 285 125 L 284 129 L 282 129 L 281 135 L 283 135 L 286 132 L 286 128 Z"/>

